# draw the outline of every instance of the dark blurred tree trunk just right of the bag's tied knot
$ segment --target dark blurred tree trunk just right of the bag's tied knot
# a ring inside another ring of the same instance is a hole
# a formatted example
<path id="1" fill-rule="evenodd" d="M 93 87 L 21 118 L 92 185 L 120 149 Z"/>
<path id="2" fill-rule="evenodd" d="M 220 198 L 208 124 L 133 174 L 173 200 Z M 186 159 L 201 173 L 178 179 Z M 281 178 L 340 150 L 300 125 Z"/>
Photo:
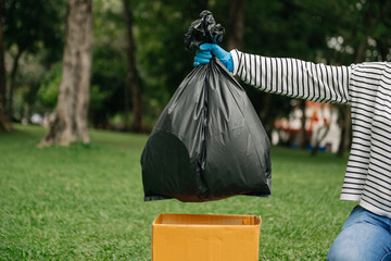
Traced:
<path id="1" fill-rule="evenodd" d="M 243 44 L 245 0 L 231 0 L 227 49 L 240 49 Z"/>

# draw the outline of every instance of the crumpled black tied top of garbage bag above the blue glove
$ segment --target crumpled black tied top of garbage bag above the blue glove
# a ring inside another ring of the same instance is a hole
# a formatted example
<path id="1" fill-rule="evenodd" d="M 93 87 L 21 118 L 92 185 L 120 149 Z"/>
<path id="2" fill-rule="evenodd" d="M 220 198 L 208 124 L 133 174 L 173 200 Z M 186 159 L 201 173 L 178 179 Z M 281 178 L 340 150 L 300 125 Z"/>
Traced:
<path id="1" fill-rule="evenodd" d="M 212 12 L 204 10 L 200 13 L 200 18 L 192 22 L 185 34 L 185 46 L 195 51 L 202 44 L 219 44 L 224 33 L 224 27 L 216 24 Z"/>

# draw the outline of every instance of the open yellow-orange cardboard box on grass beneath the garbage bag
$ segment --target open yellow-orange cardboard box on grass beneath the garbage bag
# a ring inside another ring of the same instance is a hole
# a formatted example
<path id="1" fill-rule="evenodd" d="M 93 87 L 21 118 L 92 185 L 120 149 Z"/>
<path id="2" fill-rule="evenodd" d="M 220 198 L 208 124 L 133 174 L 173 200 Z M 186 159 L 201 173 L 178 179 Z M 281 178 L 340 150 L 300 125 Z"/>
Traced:
<path id="1" fill-rule="evenodd" d="M 160 214 L 152 261 L 256 261 L 261 216 Z"/>

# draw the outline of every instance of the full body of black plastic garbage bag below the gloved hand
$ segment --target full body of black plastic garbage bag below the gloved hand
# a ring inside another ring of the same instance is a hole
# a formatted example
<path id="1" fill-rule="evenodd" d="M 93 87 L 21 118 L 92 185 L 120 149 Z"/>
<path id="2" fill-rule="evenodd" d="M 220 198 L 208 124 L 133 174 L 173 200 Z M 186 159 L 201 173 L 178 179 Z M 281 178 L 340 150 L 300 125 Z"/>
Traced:
<path id="1" fill-rule="evenodd" d="M 269 149 L 244 90 L 213 59 L 182 80 L 146 144 L 144 200 L 269 196 Z"/>

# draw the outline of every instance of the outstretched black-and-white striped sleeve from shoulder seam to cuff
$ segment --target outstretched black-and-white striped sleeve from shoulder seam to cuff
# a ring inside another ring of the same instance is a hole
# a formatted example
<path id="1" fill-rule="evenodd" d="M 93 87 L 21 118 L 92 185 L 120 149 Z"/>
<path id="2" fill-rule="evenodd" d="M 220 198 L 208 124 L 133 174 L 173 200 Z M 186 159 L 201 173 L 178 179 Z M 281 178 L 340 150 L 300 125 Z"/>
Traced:
<path id="1" fill-rule="evenodd" d="M 351 66 L 231 52 L 234 75 L 263 91 L 316 102 L 350 103 Z"/>

